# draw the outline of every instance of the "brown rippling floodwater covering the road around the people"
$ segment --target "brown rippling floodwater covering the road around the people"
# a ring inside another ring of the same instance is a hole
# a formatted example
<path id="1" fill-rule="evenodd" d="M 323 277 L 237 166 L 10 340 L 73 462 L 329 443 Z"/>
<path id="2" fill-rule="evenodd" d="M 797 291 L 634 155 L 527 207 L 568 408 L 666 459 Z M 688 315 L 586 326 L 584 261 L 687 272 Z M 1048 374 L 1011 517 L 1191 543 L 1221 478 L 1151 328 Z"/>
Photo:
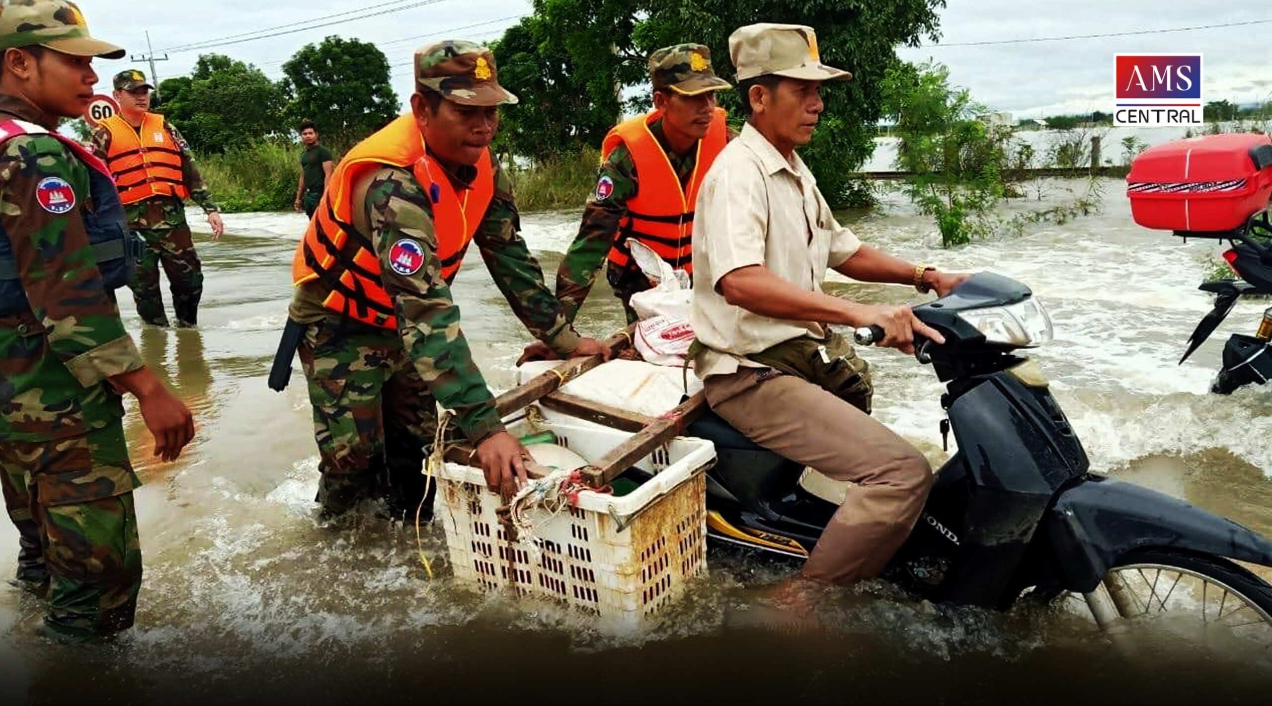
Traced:
<path id="1" fill-rule="evenodd" d="M 1048 198 L 1066 187 L 1052 183 Z M 1010 209 L 1034 207 L 1037 202 Z M 552 272 L 576 212 L 523 219 Z M 639 635 L 590 618 L 454 585 L 440 525 L 422 528 L 440 566 L 429 581 L 412 527 L 314 520 L 317 454 L 304 379 L 266 388 L 290 295 L 303 219 L 225 218 L 198 238 L 206 270 L 201 326 L 142 329 L 146 360 L 195 411 L 198 434 L 174 463 L 150 460 L 135 406 L 126 420 L 145 584 L 137 627 L 104 647 L 34 636 L 42 607 L 0 585 L 0 701 L 13 702 L 1266 702 L 1272 649 L 1202 656 L 1194 644 L 1121 656 L 1076 616 L 932 606 L 881 583 L 828 590 L 823 630 L 787 635 L 753 619 L 791 566 L 712 552 L 710 576 Z M 1197 291 L 1216 251 L 1137 228 L 1118 182 L 1104 212 L 1020 237 L 943 251 L 931 221 L 897 196 L 846 214 L 864 240 L 948 270 L 992 270 L 1046 303 L 1056 340 L 1037 351 L 1094 471 L 1133 480 L 1272 536 L 1272 389 L 1207 388 L 1227 333 L 1253 332 L 1267 303 L 1241 303 L 1211 341 L 1177 365 L 1211 304 Z M 603 279 L 602 279 L 603 280 Z M 916 300 L 899 286 L 837 281 L 836 294 Z M 453 291 L 473 352 L 497 388 L 528 335 L 480 258 Z M 602 282 L 580 327 L 613 332 L 621 310 Z M 940 385 L 894 351 L 874 364 L 876 416 L 927 453 L 940 449 Z M 0 523 L 0 570 L 17 536 Z"/>

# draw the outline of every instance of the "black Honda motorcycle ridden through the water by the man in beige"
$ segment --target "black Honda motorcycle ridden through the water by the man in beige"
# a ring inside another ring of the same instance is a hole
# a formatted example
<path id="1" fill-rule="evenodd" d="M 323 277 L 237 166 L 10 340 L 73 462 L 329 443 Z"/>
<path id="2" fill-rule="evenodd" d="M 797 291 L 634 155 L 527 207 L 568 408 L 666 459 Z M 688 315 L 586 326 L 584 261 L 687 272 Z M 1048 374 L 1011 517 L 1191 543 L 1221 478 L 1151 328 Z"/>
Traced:
<path id="1" fill-rule="evenodd" d="M 884 578 L 934 602 L 999 609 L 1024 595 L 1080 595 L 1103 628 L 1169 613 L 1272 645 L 1272 585 L 1238 564 L 1272 567 L 1272 542 L 1089 472 L 1046 377 L 1020 355 L 1052 336 L 1027 286 L 978 273 L 915 315 L 945 337 L 944 345 L 921 340 L 916 357 L 945 383 L 940 431 L 953 434 L 958 450 Z M 881 335 L 859 328 L 855 338 L 870 345 Z M 711 413 L 686 435 L 716 446 L 707 471 L 711 539 L 796 558 L 812 552 L 838 508 L 810 482 L 813 471 Z"/>

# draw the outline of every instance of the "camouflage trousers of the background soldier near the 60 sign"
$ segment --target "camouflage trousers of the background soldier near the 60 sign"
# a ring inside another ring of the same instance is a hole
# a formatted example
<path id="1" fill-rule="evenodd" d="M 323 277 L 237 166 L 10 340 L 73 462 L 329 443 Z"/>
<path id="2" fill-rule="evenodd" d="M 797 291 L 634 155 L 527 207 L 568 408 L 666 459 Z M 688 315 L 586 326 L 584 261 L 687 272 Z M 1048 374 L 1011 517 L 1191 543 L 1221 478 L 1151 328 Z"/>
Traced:
<path id="1" fill-rule="evenodd" d="M 186 212 L 179 204 L 177 206 L 172 210 L 154 205 L 153 209 L 160 209 L 165 215 L 160 228 L 136 228 L 137 235 L 146 243 L 146 251 L 137 262 L 137 271 L 128 282 L 128 289 L 132 290 L 137 315 L 155 326 L 168 326 L 163 293 L 159 289 L 160 266 L 168 275 L 177 326 L 198 323 L 198 300 L 204 296 L 204 268 L 195 253 Z M 155 220 L 150 219 L 151 223 Z"/>

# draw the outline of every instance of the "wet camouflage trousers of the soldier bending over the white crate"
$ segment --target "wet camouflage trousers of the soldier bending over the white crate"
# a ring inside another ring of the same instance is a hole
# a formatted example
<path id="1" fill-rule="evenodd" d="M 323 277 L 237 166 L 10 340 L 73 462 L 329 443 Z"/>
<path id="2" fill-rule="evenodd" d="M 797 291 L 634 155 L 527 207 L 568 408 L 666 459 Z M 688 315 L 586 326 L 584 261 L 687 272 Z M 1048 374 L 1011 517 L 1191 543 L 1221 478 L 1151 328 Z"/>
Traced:
<path id="1" fill-rule="evenodd" d="M 366 499 L 385 500 L 394 519 L 424 499 L 425 446 L 436 403 L 397 331 L 324 318 L 299 347 L 318 441 L 318 501 L 328 516 Z M 425 504 L 421 516 L 432 516 Z"/>

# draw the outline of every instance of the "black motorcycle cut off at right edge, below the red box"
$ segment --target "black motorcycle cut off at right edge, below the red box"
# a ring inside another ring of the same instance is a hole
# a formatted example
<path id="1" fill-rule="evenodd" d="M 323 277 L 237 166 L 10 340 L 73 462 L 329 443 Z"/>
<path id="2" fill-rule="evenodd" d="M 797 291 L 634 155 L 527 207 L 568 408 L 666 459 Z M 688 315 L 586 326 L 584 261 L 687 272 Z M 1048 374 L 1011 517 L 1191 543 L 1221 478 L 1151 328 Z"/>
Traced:
<path id="1" fill-rule="evenodd" d="M 1224 252 L 1224 261 L 1240 277 L 1203 282 L 1198 289 L 1215 295 L 1215 308 L 1202 317 L 1188 337 L 1188 350 L 1179 363 L 1188 360 L 1210 335 L 1227 318 L 1241 296 L 1272 295 L 1272 211 L 1264 209 L 1253 214 L 1245 225 L 1231 232 L 1193 233 L 1175 232 L 1183 238 L 1212 238 L 1227 240 L 1231 248 Z M 1224 345 L 1222 368 L 1211 392 L 1231 394 L 1250 383 L 1263 384 L 1272 379 L 1272 307 L 1263 312 L 1254 336 L 1233 333 Z"/>

